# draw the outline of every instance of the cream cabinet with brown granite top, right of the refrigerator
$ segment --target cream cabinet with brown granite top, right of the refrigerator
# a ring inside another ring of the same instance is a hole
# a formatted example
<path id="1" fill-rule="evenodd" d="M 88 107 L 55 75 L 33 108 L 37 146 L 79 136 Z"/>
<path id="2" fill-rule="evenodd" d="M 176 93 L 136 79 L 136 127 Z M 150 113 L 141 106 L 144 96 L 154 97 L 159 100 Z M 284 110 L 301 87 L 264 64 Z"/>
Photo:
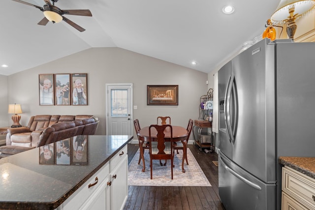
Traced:
<path id="1" fill-rule="evenodd" d="M 279 157 L 282 210 L 315 209 L 315 157 Z"/>

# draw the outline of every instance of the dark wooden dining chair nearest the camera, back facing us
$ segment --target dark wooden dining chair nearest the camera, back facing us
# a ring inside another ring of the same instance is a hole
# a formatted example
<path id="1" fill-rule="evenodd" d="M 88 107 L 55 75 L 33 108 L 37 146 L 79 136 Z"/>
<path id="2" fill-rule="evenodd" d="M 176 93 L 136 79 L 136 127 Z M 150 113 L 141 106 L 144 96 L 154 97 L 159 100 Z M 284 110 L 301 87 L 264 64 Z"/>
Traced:
<path id="1" fill-rule="evenodd" d="M 152 131 L 156 128 L 156 131 Z M 170 129 L 171 137 L 169 141 L 165 141 L 164 130 Z M 154 135 L 154 136 L 153 136 Z M 157 142 L 158 144 L 153 144 Z M 150 148 L 150 170 L 151 170 L 151 180 L 152 180 L 152 160 L 171 160 L 171 177 L 173 180 L 173 128 L 172 125 L 150 125 L 149 127 L 149 148 Z"/>

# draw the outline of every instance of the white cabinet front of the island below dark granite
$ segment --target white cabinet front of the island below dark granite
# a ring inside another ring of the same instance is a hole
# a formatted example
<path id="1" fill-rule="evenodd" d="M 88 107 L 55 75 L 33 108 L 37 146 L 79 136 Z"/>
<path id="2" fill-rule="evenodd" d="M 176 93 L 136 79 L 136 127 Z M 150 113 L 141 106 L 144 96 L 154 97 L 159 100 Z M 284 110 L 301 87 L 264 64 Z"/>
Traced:
<path id="1" fill-rule="evenodd" d="M 122 210 L 128 196 L 127 146 L 76 190 L 58 210 Z"/>

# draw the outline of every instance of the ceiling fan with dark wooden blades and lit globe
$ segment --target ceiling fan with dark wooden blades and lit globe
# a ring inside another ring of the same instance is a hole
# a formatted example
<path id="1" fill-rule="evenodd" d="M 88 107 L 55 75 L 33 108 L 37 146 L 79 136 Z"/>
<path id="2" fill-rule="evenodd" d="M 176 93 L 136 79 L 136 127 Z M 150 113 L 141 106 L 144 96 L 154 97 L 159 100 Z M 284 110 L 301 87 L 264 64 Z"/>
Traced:
<path id="1" fill-rule="evenodd" d="M 65 21 L 67 24 L 74 27 L 76 30 L 79 30 L 80 32 L 82 32 L 82 31 L 85 31 L 85 29 L 83 29 L 81 26 L 73 23 L 72 21 L 70 21 L 69 19 L 64 17 L 63 15 L 80 15 L 80 16 L 92 17 L 92 13 L 89 9 L 62 10 L 62 9 L 58 8 L 57 6 L 55 6 L 55 2 L 57 2 L 58 0 L 51 0 L 53 3 L 51 3 L 50 0 L 44 0 L 46 4 L 43 7 L 34 5 L 32 3 L 28 3 L 28 2 L 22 1 L 22 0 L 14 0 L 14 1 L 24 3 L 24 4 L 27 4 L 30 6 L 34 6 L 34 7 L 38 8 L 40 11 L 42 11 L 44 13 L 45 17 L 37 23 L 38 25 L 42 25 L 42 26 L 46 26 L 46 24 L 49 21 L 52 23 L 59 23 L 61 21 Z"/>

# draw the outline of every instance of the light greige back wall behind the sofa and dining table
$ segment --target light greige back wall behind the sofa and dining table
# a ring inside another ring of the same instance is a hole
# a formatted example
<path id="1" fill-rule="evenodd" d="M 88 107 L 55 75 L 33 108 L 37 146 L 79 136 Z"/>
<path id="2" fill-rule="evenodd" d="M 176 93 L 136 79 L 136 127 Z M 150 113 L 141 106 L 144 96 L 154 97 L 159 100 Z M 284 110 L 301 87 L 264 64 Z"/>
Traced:
<path id="1" fill-rule="evenodd" d="M 89 105 L 39 106 L 38 74 L 51 73 L 88 73 Z M 8 103 L 22 104 L 22 125 L 33 115 L 91 114 L 100 120 L 96 134 L 105 135 L 105 84 L 133 83 L 133 104 L 138 106 L 133 119 L 139 119 L 141 126 L 156 123 L 158 116 L 170 116 L 172 124 L 186 127 L 189 118 L 198 119 L 207 79 L 206 73 L 121 48 L 91 48 L 8 76 Z M 147 106 L 147 85 L 179 85 L 179 105 Z"/>

